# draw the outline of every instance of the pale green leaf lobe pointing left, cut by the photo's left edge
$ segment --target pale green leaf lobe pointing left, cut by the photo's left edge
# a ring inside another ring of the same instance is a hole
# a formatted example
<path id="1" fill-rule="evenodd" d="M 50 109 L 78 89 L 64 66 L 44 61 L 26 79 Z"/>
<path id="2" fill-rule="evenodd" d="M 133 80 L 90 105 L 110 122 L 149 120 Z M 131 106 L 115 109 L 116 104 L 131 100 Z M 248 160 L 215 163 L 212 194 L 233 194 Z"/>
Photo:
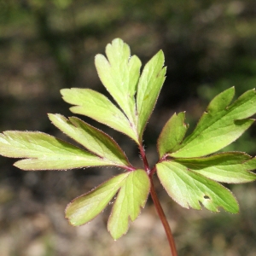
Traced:
<path id="1" fill-rule="evenodd" d="M 15 166 L 31 171 L 112 165 L 108 160 L 37 131 L 4 131 L 0 134 L 0 154 L 26 158 L 15 162 Z"/>

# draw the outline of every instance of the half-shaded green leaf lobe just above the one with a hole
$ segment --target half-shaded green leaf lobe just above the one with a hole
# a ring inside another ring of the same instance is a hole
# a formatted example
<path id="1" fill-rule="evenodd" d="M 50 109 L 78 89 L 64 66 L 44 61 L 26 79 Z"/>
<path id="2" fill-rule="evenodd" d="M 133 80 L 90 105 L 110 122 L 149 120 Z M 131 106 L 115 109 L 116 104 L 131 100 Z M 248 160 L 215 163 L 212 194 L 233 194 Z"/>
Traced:
<path id="1" fill-rule="evenodd" d="M 209 157 L 181 158 L 174 161 L 218 182 L 247 183 L 256 179 L 256 175 L 253 172 L 247 172 L 248 166 L 245 163 L 248 160 L 251 160 L 251 156 L 248 154 L 226 152 Z"/>

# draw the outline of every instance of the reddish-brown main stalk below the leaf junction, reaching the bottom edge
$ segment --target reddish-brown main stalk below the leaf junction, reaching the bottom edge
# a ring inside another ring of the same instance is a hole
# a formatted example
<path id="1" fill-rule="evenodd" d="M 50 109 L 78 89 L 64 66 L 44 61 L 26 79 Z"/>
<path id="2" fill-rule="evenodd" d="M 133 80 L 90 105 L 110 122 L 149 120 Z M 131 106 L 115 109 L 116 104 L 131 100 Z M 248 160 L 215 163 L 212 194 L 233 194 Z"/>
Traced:
<path id="1" fill-rule="evenodd" d="M 177 256 L 177 249 L 176 249 L 175 241 L 174 241 L 173 236 L 172 236 L 171 227 L 168 224 L 166 214 L 165 214 L 165 212 L 163 211 L 163 208 L 160 205 L 160 201 L 158 200 L 158 196 L 156 195 L 152 176 L 149 176 L 149 178 L 150 178 L 150 183 L 151 183 L 150 195 L 151 195 L 152 200 L 154 201 L 154 207 L 156 208 L 156 211 L 157 211 L 157 213 L 160 217 L 160 220 L 161 220 L 161 222 L 164 226 L 164 229 L 166 231 L 166 236 L 167 236 L 167 240 L 168 240 L 169 245 L 170 245 L 172 256 Z"/>

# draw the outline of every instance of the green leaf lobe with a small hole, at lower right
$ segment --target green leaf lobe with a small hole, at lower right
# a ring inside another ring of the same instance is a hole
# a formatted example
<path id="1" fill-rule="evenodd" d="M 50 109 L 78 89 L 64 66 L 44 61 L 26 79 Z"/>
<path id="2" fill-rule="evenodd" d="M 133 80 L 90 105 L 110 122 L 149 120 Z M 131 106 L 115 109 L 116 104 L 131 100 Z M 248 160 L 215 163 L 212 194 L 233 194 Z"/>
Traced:
<path id="1" fill-rule="evenodd" d="M 219 183 L 174 161 L 160 162 L 156 168 L 168 195 L 182 207 L 200 210 L 202 204 L 212 212 L 218 212 L 218 207 L 232 213 L 239 211 L 234 195 Z"/>

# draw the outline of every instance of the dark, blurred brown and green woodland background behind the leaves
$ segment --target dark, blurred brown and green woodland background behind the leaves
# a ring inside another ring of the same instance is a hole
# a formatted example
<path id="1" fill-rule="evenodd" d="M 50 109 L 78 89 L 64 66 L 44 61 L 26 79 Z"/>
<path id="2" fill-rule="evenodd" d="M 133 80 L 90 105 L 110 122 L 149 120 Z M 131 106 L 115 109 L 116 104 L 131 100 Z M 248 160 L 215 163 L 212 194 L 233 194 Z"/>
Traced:
<path id="1" fill-rule="evenodd" d="M 159 49 L 166 55 L 166 83 L 144 137 L 151 165 L 161 127 L 174 112 L 187 111 L 193 128 L 213 96 L 231 86 L 239 96 L 256 85 L 255 0 L 0 0 L 0 131 L 44 131 L 69 141 L 47 113 L 73 115 L 61 88 L 108 96 L 94 57 L 113 38 L 124 39 L 144 64 Z M 141 165 L 130 139 L 80 118 L 108 132 Z M 255 131 L 253 125 L 225 149 L 255 155 Z M 0 157 L 1 256 L 169 255 L 150 198 L 119 241 L 106 229 L 110 208 L 82 227 L 67 224 L 67 203 L 119 170 L 23 172 L 14 162 Z M 183 209 L 155 183 L 178 255 L 256 256 L 255 183 L 228 186 L 240 202 L 236 215 Z"/>

